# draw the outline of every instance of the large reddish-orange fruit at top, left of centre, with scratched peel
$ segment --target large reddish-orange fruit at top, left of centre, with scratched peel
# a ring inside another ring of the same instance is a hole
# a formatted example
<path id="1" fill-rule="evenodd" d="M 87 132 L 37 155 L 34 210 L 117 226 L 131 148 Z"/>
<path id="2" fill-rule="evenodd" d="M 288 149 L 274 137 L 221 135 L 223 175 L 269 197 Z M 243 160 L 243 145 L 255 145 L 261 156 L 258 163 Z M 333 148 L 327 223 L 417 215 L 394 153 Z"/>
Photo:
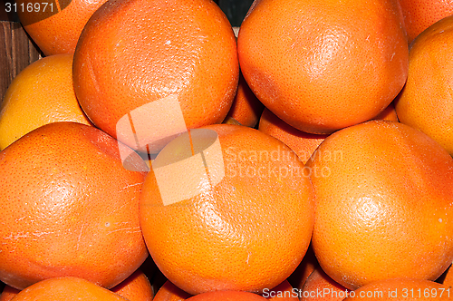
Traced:
<path id="1" fill-rule="evenodd" d="M 133 127 L 158 136 L 153 141 L 159 143 L 149 143 L 155 153 L 175 134 L 169 128 L 179 117 L 184 131 L 224 121 L 239 76 L 236 38 L 213 1 L 113 1 L 86 24 L 73 72 L 83 111 L 137 150 L 143 145 L 118 137 L 117 123 L 146 112 L 144 120 L 132 120 Z"/>

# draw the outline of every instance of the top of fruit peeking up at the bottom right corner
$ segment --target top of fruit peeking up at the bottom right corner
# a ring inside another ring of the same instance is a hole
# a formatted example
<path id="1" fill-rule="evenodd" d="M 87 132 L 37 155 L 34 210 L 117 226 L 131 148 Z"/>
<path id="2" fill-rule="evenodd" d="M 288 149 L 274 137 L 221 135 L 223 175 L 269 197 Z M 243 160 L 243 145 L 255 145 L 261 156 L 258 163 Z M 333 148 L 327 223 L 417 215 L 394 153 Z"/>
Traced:
<path id="1" fill-rule="evenodd" d="M 361 286 L 349 294 L 344 301 L 447 301 L 452 292 L 429 280 L 393 278 Z"/>

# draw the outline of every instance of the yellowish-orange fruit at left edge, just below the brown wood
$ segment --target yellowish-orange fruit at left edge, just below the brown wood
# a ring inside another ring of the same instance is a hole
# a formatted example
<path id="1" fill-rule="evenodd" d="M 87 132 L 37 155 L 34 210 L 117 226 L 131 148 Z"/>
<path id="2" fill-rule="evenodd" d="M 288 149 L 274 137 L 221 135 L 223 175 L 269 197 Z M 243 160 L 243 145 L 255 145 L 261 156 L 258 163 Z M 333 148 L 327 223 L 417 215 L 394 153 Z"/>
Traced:
<path id="1" fill-rule="evenodd" d="M 56 121 L 91 124 L 72 86 L 72 54 L 44 57 L 14 78 L 0 102 L 0 150 Z"/>

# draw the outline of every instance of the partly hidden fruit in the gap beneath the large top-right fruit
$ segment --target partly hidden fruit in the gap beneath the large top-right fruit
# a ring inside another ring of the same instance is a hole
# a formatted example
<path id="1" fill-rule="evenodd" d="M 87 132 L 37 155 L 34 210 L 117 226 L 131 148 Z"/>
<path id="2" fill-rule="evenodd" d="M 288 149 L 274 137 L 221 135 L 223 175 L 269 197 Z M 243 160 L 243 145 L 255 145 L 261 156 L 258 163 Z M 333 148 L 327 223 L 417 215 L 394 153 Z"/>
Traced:
<path id="1" fill-rule="evenodd" d="M 271 135 L 284 142 L 291 150 L 297 154 L 300 160 L 305 164 L 312 156 L 312 153 L 329 136 L 327 134 L 310 134 L 299 131 L 275 116 L 275 113 L 265 109 L 259 120 L 259 131 Z"/>

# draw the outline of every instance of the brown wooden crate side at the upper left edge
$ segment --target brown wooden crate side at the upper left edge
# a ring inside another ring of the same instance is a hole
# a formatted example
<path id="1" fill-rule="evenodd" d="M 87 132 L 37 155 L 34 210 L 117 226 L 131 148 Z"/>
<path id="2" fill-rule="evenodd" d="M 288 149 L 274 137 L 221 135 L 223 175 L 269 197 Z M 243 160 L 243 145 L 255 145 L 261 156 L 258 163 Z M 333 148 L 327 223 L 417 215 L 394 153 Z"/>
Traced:
<path id="1" fill-rule="evenodd" d="M 41 57 L 20 23 L 0 21 L 0 102 L 14 77 Z"/>

